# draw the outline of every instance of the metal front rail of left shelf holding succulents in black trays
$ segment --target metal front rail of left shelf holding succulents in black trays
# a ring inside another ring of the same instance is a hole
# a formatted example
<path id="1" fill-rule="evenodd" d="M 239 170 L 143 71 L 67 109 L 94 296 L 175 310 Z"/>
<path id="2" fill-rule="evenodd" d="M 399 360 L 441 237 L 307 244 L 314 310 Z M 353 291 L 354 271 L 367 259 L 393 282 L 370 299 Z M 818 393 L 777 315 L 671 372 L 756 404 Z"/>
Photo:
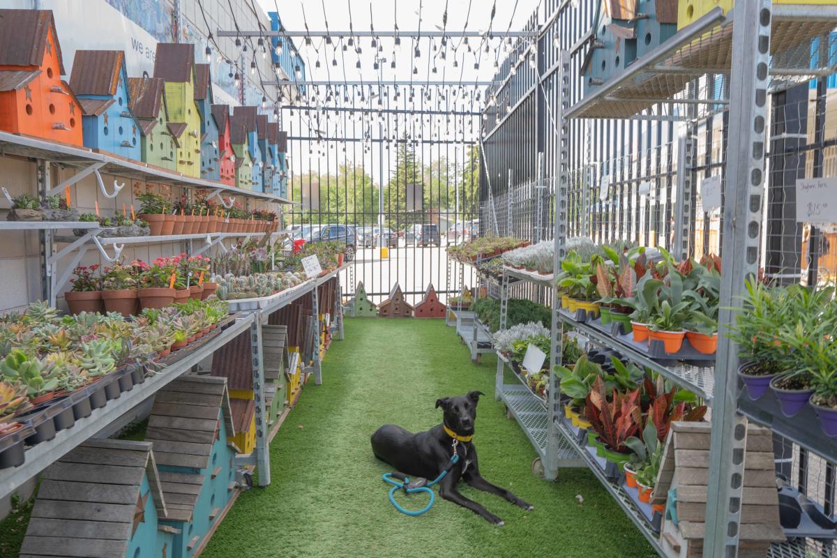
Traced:
<path id="1" fill-rule="evenodd" d="M 88 438 L 95 438 L 96 434 L 105 429 L 111 422 L 131 412 L 131 409 L 146 401 L 148 397 L 153 397 L 169 382 L 192 370 L 192 367 L 197 365 L 198 362 L 211 356 L 218 348 L 248 330 L 253 322 L 254 318 L 252 316 L 240 317 L 239 320 L 234 321 L 233 325 L 196 348 L 189 355 L 171 366 L 164 366 L 153 376 L 148 376 L 146 381 L 136 384 L 131 391 L 123 392 L 119 398 L 108 402 L 105 407 L 95 409 L 90 413 L 90 417 L 80 418 L 75 421 L 73 427 L 56 433 L 52 440 L 28 448 L 25 453 L 26 460 L 22 465 L 0 470 L 0 498 L 12 494 L 28 479 L 33 478 L 51 463 L 64 457 L 65 453 L 68 453 L 80 443 Z"/>

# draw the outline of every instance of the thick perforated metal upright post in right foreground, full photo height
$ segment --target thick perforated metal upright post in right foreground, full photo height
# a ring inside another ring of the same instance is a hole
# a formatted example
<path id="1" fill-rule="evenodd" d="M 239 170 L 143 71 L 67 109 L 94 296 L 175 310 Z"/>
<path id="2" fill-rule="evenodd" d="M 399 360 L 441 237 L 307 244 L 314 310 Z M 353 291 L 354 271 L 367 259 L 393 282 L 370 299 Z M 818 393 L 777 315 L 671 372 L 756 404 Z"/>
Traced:
<path id="1" fill-rule="evenodd" d="M 737 346 L 727 325 L 740 304 L 744 281 L 758 270 L 762 225 L 765 123 L 770 64 L 770 0 L 737 3 L 732 30 L 727 183 L 724 192 L 724 239 L 721 313 L 706 501 L 704 555 L 735 558 L 744 486 L 747 420 L 737 413 Z"/>

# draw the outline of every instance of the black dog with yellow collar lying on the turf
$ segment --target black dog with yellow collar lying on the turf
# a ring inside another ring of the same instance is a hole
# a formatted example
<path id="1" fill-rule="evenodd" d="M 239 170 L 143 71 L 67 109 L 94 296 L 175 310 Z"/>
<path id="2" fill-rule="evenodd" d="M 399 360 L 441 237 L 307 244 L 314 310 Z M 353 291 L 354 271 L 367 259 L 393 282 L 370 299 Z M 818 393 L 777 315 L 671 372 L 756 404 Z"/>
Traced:
<path id="1" fill-rule="evenodd" d="M 510 490 L 501 489 L 480 476 L 476 448 L 471 443 L 476 420 L 476 404 L 482 392 L 468 392 L 468 395 L 444 397 L 436 400 L 436 407 L 444 410 L 444 422 L 430 428 L 427 432 L 413 434 L 394 424 L 385 424 L 372 434 L 372 452 L 375 457 L 392 465 L 396 470 L 410 477 L 436 479 L 445 468 L 449 467 L 454 452 L 459 453 L 459 461 L 450 468 L 444 479 L 439 482 L 439 495 L 480 514 L 494 525 L 503 525 L 503 521 L 475 501 L 465 498 L 456 489 L 460 479 L 475 489 L 498 494 L 523 509 L 534 509 Z"/>

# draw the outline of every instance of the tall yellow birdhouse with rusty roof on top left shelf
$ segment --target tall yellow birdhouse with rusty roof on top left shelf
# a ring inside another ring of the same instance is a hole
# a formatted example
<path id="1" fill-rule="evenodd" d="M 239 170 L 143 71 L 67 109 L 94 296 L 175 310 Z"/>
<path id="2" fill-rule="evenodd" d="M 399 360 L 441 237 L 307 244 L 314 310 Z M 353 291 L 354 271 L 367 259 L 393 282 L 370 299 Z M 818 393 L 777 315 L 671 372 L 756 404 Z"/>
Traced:
<path id="1" fill-rule="evenodd" d="M 200 177 L 201 114 L 195 104 L 195 53 L 189 43 L 157 43 L 154 77 L 166 80 L 169 130 L 177 138 L 177 171 Z"/>

